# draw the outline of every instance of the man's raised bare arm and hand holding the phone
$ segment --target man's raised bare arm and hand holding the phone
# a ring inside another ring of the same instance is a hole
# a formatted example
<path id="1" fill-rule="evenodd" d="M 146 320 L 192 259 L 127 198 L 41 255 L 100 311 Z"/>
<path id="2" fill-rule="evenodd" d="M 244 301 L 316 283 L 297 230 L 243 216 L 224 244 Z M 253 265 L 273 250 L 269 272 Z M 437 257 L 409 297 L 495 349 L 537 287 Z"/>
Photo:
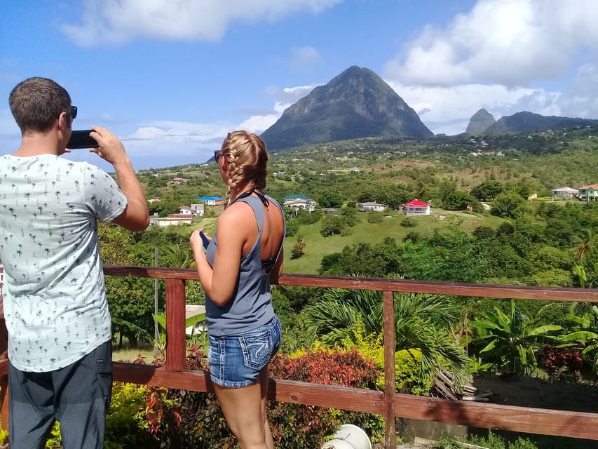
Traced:
<path id="1" fill-rule="evenodd" d="M 147 200 L 132 163 L 125 152 L 125 147 L 121 140 L 106 128 L 100 128 L 100 126 L 92 126 L 92 128 L 93 133 L 90 135 L 100 147 L 92 148 L 89 151 L 114 166 L 118 187 L 127 198 L 127 207 L 113 222 L 129 231 L 143 231 L 149 226 Z"/>

